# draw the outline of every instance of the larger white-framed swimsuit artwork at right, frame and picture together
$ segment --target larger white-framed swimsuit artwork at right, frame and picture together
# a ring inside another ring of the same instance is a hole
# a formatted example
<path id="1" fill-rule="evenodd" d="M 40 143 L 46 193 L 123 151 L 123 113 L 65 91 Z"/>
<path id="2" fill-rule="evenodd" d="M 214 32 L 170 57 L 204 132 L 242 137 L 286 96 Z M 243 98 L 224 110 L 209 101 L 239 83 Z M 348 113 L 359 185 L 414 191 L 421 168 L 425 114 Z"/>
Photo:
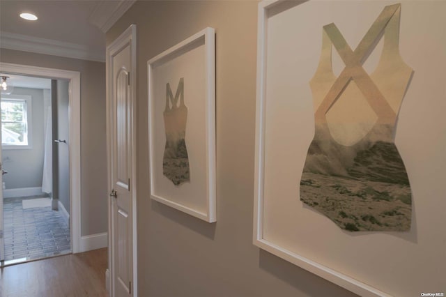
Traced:
<path id="1" fill-rule="evenodd" d="M 259 3 L 254 245 L 360 296 L 446 293 L 445 9 Z"/>

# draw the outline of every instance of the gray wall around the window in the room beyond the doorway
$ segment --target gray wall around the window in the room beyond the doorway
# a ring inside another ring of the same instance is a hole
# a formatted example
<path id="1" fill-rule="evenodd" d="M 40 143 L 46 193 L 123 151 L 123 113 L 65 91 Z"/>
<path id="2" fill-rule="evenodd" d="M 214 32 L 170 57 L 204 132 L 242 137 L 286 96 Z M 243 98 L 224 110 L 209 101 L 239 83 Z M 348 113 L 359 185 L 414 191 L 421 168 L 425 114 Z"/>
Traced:
<path id="1" fill-rule="evenodd" d="M 29 130 L 32 134 L 32 148 L 2 149 L 3 167 L 8 171 L 8 174 L 3 176 L 3 181 L 6 189 L 41 187 L 45 149 L 43 90 L 16 87 L 12 95 L 31 96 L 32 123 Z"/>

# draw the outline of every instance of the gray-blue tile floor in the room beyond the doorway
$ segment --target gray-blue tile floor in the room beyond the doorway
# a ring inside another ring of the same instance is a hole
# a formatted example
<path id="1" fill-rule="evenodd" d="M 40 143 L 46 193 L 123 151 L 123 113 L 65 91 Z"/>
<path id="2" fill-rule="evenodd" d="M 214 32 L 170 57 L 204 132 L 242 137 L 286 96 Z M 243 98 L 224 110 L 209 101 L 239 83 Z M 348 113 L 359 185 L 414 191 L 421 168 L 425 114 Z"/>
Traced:
<path id="1" fill-rule="evenodd" d="M 5 261 L 39 259 L 71 252 L 68 220 L 51 207 L 22 207 L 24 199 L 3 201 Z M 25 261 L 26 261 L 25 260 Z"/>

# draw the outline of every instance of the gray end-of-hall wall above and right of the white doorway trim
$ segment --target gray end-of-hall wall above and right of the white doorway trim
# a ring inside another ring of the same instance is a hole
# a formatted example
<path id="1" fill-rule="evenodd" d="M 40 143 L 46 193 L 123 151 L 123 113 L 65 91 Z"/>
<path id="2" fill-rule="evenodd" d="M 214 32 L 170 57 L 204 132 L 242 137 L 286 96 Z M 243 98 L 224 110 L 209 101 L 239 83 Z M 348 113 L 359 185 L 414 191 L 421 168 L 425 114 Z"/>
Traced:
<path id="1" fill-rule="evenodd" d="M 106 232 L 105 63 L 6 49 L 0 61 L 81 73 L 81 234 Z"/>

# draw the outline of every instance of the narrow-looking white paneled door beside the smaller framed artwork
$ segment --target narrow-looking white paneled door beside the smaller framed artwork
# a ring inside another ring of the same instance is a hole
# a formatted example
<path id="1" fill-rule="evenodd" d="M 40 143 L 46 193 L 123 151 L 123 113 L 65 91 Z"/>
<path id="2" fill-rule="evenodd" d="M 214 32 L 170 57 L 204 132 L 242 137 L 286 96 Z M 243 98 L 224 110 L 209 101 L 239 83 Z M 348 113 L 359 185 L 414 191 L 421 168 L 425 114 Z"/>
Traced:
<path id="1" fill-rule="evenodd" d="M 109 47 L 109 185 L 111 296 L 133 296 L 132 42 Z M 111 109 L 111 110 L 110 110 Z"/>

